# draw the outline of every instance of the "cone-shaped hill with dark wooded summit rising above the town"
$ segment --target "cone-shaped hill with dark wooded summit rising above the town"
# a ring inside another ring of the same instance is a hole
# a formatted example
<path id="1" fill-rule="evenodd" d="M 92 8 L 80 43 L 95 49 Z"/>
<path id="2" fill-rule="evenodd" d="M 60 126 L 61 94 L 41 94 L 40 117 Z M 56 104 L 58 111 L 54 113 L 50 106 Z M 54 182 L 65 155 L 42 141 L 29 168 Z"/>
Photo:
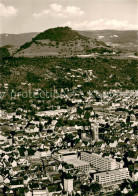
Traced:
<path id="1" fill-rule="evenodd" d="M 99 47 L 110 52 L 109 47 L 102 41 L 92 40 L 69 27 L 57 27 L 38 34 L 32 41 L 20 46 L 15 57 L 76 56 L 92 53 L 93 48 Z"/>

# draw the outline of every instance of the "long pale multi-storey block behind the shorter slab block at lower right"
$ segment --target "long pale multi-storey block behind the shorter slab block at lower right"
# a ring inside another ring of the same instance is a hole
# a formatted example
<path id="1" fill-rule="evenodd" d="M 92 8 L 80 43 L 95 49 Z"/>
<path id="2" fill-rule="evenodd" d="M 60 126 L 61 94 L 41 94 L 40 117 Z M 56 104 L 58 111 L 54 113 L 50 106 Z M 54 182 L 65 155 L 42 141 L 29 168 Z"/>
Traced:
<path id="1" fill-rule="evenodd" d="M 81 160 L 86 161 L 99 171 L 108 171 L 122 168 L 122 164 L 112 158 L 105 158 L 99 154 L 81 152 Z"/>

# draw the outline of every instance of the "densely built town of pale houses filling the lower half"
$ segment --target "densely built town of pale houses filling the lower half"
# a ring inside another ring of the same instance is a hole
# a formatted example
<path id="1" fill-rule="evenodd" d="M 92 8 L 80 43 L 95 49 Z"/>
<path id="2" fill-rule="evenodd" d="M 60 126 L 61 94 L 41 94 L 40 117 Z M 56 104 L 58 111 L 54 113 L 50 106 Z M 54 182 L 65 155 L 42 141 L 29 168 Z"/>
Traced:
<path id="1" fill-rule="evenodd" d="M 30 102 L 35 113 L 1 110 L 0 194 L 134 195 L 138 91 L 64 90 L 45 110 L 40 99 Z"/>

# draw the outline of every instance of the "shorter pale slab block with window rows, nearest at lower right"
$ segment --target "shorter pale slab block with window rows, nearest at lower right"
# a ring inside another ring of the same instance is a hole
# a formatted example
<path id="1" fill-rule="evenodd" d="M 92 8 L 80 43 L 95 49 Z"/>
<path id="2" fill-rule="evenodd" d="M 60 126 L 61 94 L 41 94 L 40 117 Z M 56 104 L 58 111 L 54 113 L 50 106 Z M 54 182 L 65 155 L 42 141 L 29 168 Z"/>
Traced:
<path id="1" fill-rule="evenodd" d="M 102 186 L 111 186 L 114 184 L 120 184 L 123 180 L 129 178 L 128 168 L 122 168 L 118 170 L 96 173 L 94 174 L 94 180 Z"/>

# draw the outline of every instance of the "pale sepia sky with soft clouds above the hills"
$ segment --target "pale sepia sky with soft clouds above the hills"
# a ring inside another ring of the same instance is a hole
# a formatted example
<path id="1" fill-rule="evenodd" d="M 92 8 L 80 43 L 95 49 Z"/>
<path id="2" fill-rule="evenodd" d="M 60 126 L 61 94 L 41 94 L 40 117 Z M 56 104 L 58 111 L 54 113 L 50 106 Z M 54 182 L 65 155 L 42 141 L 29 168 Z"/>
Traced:
<path id="1" fill-rule="evenodd" d="M 138 30 L 138 0 L 0 0 L 0 33 Z"/>

